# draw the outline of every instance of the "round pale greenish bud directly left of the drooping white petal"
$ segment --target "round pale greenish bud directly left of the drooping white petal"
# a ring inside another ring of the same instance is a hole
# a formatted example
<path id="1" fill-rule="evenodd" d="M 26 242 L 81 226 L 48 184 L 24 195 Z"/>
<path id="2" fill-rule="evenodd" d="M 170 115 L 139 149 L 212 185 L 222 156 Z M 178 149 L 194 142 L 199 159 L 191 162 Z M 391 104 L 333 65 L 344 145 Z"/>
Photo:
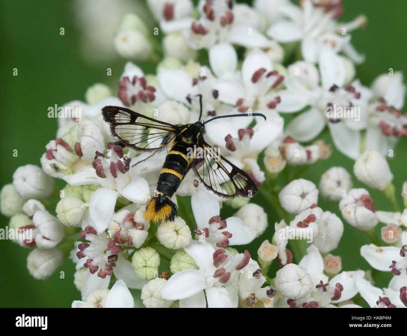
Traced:
<path id="1" fill-rule="evenodd" d="M 57 218 L 65 226 L 80 226 L 85 215 L 86 206 L 79 198 L 64 197 L 57 204 Z"/>

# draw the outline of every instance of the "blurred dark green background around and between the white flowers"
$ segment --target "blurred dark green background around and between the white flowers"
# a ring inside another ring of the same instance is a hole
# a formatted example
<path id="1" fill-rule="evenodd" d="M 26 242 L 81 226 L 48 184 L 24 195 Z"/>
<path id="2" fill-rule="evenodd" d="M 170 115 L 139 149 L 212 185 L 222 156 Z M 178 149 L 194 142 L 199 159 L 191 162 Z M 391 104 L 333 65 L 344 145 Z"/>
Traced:
<path id="1" fill-rule="evenodd" d="M 113 92 L 117 90 L 118 78 L 123 71 L 125 60 L 103 60 L 103 57 L 100 57 L 103 55 L 95 54 L 98 62 L 89 62 L 83 57 L 81 48 L 87 42 L 81 39 L 81 31 L 75 24 L 72 7 L 84 2 L 85 0 L 43 0 L 41 4 L 29 0 L 2 2 L 0 69 L 3 76 L 3 108 L 0 113 L 4 156 L 0 165 L 0 186 L 12 181 L 11 176 L 19 166 L 40 165 L 39 158 L 45 151 L 44 147 L 50 140 L 55 139 L 57 129 L 57 120 L 47 118 L 48 106 L 61 106 L 75 99 L 84 100 L 86 88 L 96 82 L 108 84 Z M 88 10 L 95 6 L 94 13 L 106 11 L 103 1 L 98 7 L 96 3 L 88 1 Z M 142 1 L 139 4 L 142 6 Z M 360 13 L 364 13 L 369 20 L 366 29 L 352 34 L 353 45 L 359 52 L 366 54 L 366 62 L 357 67 L 357 77 L 362 83 L 370 85 L 377 75 L 387 72 L 389 68 L 407 73 L 407 2 L 345 0 L 344 8 L 345 13 L 341 20 L 349 21 Z M 145 13 L 144 10 L 142 13 Z M 98 24 L 105 24 L 103 20 L 106 16 L 108 17 L 106 13 L 103 19 L 101 16 L 101 22 Z M 148 24 L 150 27 L 156 25 L 151 20 Z M 60 35 L 61 27 L 65 29 L 63 36 Z M 138 64 L 146 73 L 154 69 L 147 63 Z M 18 76 L 13 76 L 13 68 L 18 69 Z M 107 68 L 112 69 L 112 77 L 106 75 Z M 401 186 L 406 179 L 406 140 L 398 143 L 394 158 L 389 160 L 395 175 L 394 185 L 400 205 Z M 18 157 L 13 157 L 13 149 L 18 150 Z M 344 166 L 348 171 L 352 171 L 352 161 L 335 150 L 329 160 L 311 166 L 302 177 L 317 184 L 321 174 L 333 165 Z M 363 187 L 356 179 L 353 181 L 355 187 Z M 390 202 L 383 198 L 380 192 L 372 191 L 371 195 L 376 209 L 391 209 Z M 264 239 L 271 239 L 274 233 L 273 224 L 280 220 L 260 194 L 254 198 L 254 202 L 263 205 L 268 212 L 269 228 L 261 238 L 250 244 L 249 251 L 252 255 L 256 255 L 256 250 Z M 321 201 L 318 205 L 324 210 L 339 214 L 336 204 Z M 225 207 L 221 213 L 222 218 L 232 213 L 232 209 Z M 2 215 L 0 221 L 3 228 L 8 224 L 8 218 Z M 370 243 L 370 239 L 349 224 L 344 223 L 344 226 L 344 237 L 339 248 L 332 253 L 341 255 L 343 270 L 368 269 L 369 265 L 361 258 L 359 248 Z M 12 241 L 0 241 L 0 306 L 70 307 L 72 300 L 80 299 L 80 293 L 73 284 L 74 265 L 68 258 L 51 278 L 40 281 L 33 279 L 26 269 L 26 256 L 29 251 Z M 59 271 L 65 272 L 64 279 L 59 278 Z M 273 271 L 274 269 L 270 274 L 273 274 Z M 391 274 L 381 273 L 375 278 L 375 285 L 385 287 L 390 278 Z M 363 301 L 357 303 L 363 304 Z"/>

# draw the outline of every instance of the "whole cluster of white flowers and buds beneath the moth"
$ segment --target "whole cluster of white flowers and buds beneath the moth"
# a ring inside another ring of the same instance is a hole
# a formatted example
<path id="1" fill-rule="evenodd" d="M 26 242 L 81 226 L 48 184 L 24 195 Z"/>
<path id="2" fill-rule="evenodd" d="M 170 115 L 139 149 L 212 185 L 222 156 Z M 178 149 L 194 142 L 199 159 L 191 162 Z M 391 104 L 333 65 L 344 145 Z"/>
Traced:
<path id="1" fill-rule="evenodd" d="M 1 212 L 19 232 L 15 240 L 34 248 L 27 258 L 30 274 L 52 276 L 69 254 L 81 292 L 75 308 L 132 308 L 129 288 L 141 289 L 136 302 L 148 308 L 355 307 L 351 299 L 358 293 L 371 307 L 407 306 L 407 209 L 376 211 L 369 191 L 354 188 L 353 175 L 334 162 L 318 187 L 300 177 L 338 150 L 355 160 L 359 182 L 398 204 L 385 157 L 407 136 L 400 111 L 405 84 L 402 73 L 392 71 L 370 87 L 355 77 L 354 65 L 364 56 L 347 32 L 364 26 L 366 18 L 339 22 L 343 8 L 335 0 L 256 0 L 253 7 L 233 0 L 200 0 L 196 8 L 191 0 L 147 4 L 158 22 L 154 30 L 140 13 L 126 11 L 109 32 L 127 60 L 117 97 L 96 83 L 85 102 L 66 103 L 81 108 L 80 121 L 60 119 L 40 158 L 42 168 L 17 168 L 13 183 L 1 190 Z M 295 52 L 300 60 L 288 64 Z M 202 54 L 208 64 L 197 60 Z M 155 72 L 144 73 L 138 61 L 153 64 Z M 157 226 L 144 214 L 167 152 L 140 153 L 120 143 L 101 109 L 126 107 L 184 125 L 198 121 L 197 95 L 204 121 L 245 115 L 208 123 L 204 138 L 247 173 L 258 194 L 226 200 L 189 172 L 171 198 L 179 217 Z M 324 129 L 334 146 L 316 140 Z M 319 195 L 337 203 L 337 213 L 319 207 Z M 274 228 L 271 212 L 279 216 Z M 330 254 L 344 230 L 352 230 L 339 215 L 372 238 L 360 254 L 373 268 L 392 272 L 388 288 L 374 287 L 367 270 L 342 271 L 341 256 Z M 388 246 L 377 245 L 379 222 L 386 224 L 381 238 Z M 265 235 L 270 241 L 254 246 Z M 170 261 L 169 269 L 163 260 Z M 270 276 L 274 260 L 280 269 Z"/>

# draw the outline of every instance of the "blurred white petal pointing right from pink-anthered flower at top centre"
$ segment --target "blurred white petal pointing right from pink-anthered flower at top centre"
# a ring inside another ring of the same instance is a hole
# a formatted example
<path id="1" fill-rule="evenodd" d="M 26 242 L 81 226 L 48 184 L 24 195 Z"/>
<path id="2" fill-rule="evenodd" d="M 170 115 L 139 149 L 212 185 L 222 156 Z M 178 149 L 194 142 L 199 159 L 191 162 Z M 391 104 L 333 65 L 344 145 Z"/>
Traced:
<path id="1" fill-rule="evenodd" d="M 256 28 L 233 26 L 229 32 L 228 41 L 233 44 L 243 45 L 247 48 L 264 48 L 272 44 Z"/>

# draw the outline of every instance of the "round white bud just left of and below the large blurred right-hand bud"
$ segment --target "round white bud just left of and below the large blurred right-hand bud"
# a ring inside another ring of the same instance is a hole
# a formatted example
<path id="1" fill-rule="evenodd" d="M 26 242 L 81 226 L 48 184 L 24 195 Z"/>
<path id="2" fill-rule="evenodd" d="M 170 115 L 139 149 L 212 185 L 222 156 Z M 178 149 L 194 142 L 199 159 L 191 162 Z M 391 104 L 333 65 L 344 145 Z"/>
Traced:
<path id="1" fill-rule="evenodd" d="M 321 196 L 331 202 L 339 202 L 344 191 L 348 192 L 353 187 L 350 174 L 343 167 L 331 167 L 322 174 L 319 181 Z"/>

